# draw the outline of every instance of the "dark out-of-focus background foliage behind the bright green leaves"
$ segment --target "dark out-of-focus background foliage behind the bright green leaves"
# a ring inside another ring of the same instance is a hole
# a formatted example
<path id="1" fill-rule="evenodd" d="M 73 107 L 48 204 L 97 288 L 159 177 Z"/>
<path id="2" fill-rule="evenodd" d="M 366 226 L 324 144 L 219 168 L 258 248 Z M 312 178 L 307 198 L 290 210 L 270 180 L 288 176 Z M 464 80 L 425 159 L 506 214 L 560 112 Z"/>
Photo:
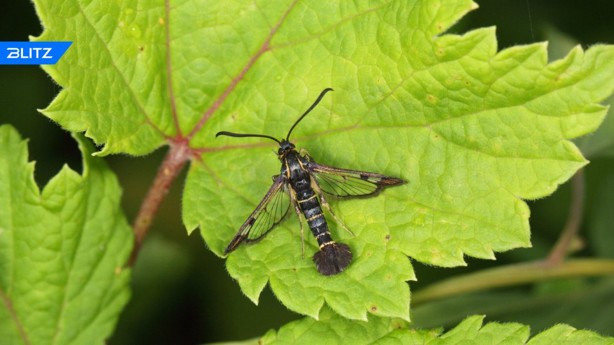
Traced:
<path id="1" fill-rule="evenodd" d="M 575 44 L 614 44 L 614 2 L 573 0 L 478 1 L 475 10 L 449 32 L 497 26 L 499 49 L 550 41 L 550 60 Z M 7 1 L 0 11 L 0 41 L 28 41 L 41 25 L 26 0 Z M 0 123 L 10 123 L 30 138 L 36 182 L 43 186 L 64 163 L 81 170 L 81 157 L 69 133 L 39 114 L 59 87 L 38 66 L 0 66 Z M 607 102 L 612 104 L 612 100 Z M 610 113 L 612 110 L 610 110 Z M 614 120 L 608 114 L 597 133 L 578 145 L 591 160 L 585 168 L 585 217 L 576 244 L 578 257 L 614 258 Z M 166 148 L 146 157 L 114 155 L 105 159 L 123 186 L 123 207 L 132 220 L 155 176 Z M 185 171 L 184 171 L 185 174 Z M 196 344 L 263 335 L 302 316 L 278 303 L 268 288 L 255 306 L 225 271 L 224 261 L 204 246 L 198 231 L 187 236 L 181 223 L 180 176 L 161 206 L 133 271 L 133 297 L 109 344 Z M 467 267 L 435 268 L 414 262 L 413 291 L 445 277 L 506 263 L 545 257 L 565 225 L 569 183 L 548 198 L 529 201 L 533 247 L 497 254 L 497 261 L 467 258 Z M 532 332 L 563 322 L 614 336 L 614 279 L 566 279 L 473 293 L 412 308 L 416 327 L 446 328 L 469 314 L 486 320 L 529 324 Z"/>

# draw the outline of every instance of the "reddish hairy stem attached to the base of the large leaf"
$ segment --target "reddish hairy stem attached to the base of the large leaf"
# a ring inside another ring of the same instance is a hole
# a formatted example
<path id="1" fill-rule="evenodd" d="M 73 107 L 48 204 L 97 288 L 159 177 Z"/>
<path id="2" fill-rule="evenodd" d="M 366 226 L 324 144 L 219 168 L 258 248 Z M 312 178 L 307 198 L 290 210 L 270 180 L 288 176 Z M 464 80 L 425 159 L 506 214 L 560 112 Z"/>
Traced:
<path id="1" fill-rule="evenodd" d="M 164 200 L 166 193 L 171 188 L 171 184 L 173 184 L 173 181 L 185 163 L 187 163 L 189 157 L 190 149 L 184 142 L 171 144 L 171 148 L 166 153 L 166 157 L 162 161 L 162 165 L 158 169 L 151 187 L 149 187 L 147 196 L 141 204 L 141 209 L 139 209 L 139 213 L 136 215 L 136 219 L 134 219 L 134 248 L 132 249 L 128 266 L 134 264 L 162 200 Z"/>

